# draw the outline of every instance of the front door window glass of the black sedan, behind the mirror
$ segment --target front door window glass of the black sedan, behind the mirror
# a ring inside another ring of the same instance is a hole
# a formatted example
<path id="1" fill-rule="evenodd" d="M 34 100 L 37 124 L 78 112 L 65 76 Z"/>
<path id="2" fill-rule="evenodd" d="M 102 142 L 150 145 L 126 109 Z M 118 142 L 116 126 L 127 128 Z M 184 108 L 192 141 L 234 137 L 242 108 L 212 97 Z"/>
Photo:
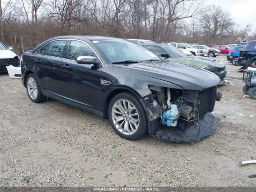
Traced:
<path id="1" fill-rule="evenodd" d="M 67 59 L 76 60 L 79 56 L 96 57 L 92 49 L 84 42 L 72 40 L 68 48 Z"/>

